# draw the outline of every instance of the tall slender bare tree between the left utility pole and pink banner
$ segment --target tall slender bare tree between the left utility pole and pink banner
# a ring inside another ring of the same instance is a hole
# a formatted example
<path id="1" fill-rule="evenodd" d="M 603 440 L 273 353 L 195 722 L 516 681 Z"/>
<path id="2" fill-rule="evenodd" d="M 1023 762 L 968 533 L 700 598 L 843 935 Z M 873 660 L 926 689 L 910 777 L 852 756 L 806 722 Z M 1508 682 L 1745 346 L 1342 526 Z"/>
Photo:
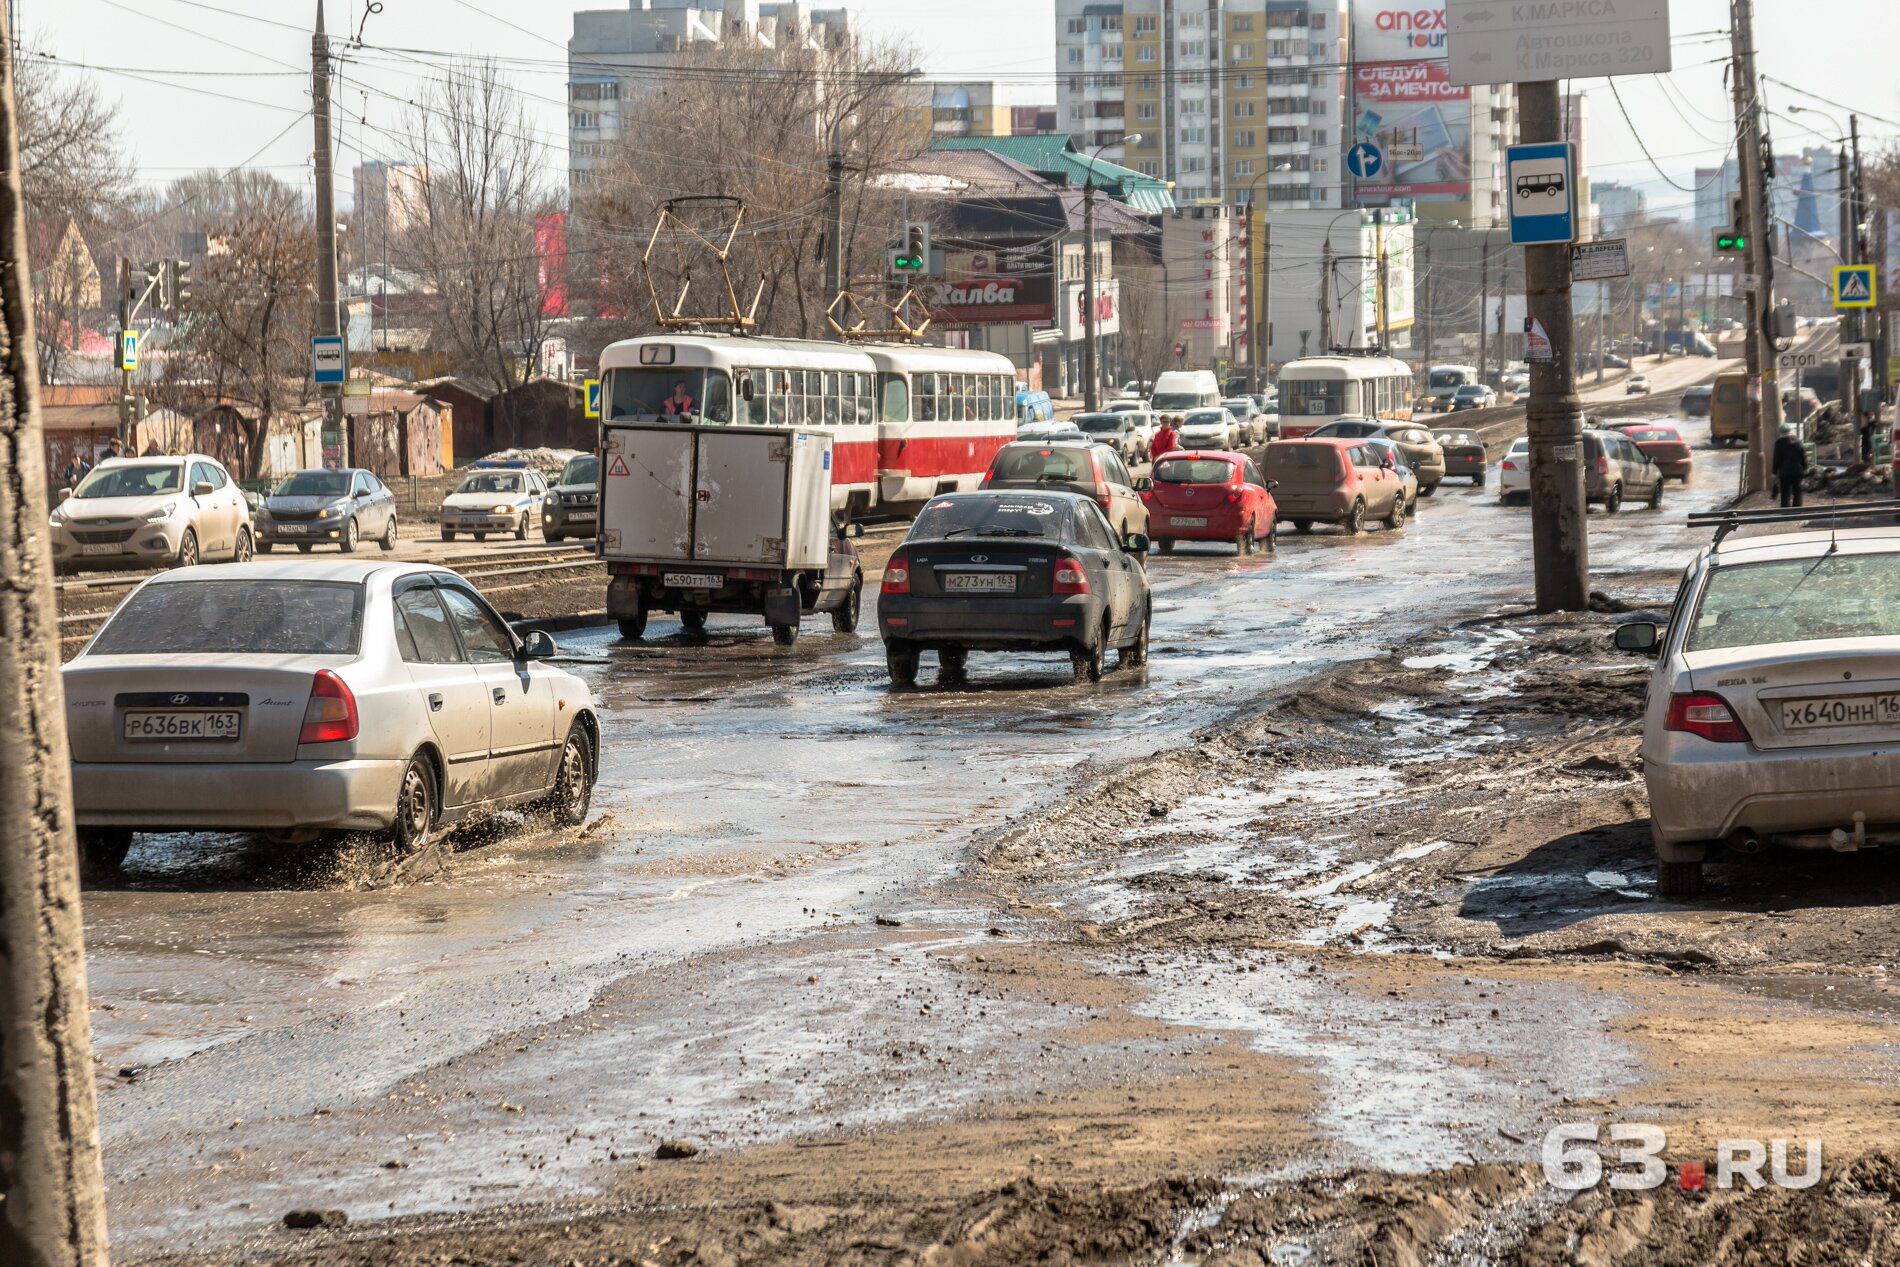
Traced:
<path id="1" fill-rule="evenodd" d="M 437 351 L 507 391 L 534 376 L 555 317 L 536 251 L 536 220 L 557 209 L 547 152 L 492 61 L 435 80 L 408 141 L 420 205 L 407 209 L 397 258 L 433 291 Z M 515 441 L 513 418 L 502 422 Z"/>

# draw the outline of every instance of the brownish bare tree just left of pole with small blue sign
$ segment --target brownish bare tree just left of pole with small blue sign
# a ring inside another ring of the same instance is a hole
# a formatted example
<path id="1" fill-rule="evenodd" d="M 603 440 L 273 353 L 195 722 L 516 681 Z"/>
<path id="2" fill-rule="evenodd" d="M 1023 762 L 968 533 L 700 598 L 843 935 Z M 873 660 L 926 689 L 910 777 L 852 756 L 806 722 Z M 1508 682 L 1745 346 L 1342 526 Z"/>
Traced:
<path id="1" fill-rule="evenodd" d="M 171 342 L 160 397 L 180 408 L 236 405 L 245 465 L 258 475 L 272 425 L 310 403 L 315 329 L 314 226 L 298 190 L 268 173 L 211 180 L 211 255 Z M 186 194 L 194 188 L 186 188 Z"/>

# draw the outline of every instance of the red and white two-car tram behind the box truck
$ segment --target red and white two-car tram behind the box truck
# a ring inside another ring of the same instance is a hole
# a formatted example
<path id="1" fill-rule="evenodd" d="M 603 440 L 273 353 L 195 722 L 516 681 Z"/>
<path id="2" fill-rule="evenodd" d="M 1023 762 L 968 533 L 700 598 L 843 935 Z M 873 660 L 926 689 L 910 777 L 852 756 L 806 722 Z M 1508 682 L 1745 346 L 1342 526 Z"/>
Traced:
<path id="1" fill-rule="evenodd" d="M 994 351 L 656 334 L 600 353 L 602 422 L 832 435 L 832 509 L 899 511 L 982 484 L 1016 435 L 1016 369 Z"/>

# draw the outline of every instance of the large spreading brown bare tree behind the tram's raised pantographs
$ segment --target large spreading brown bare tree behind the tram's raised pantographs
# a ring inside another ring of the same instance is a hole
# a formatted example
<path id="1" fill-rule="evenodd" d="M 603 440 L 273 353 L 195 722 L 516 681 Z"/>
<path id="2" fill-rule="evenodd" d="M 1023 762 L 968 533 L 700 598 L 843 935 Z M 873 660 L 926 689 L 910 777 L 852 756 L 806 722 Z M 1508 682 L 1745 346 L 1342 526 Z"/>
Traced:
<path id="1" fill-rule="evenodd" d="M 764 281 L 758 327 L 821 336 L 828 158 L 844 154 L 844 277 L 882 274 L 901 230 L 899 198 L 880 177 L 929 142 L 929 93 L 910 85 L 906 46 L 728 40 L 686 53 L 661 80 L 621 85 L 621 139 L 578 192 L 576 215 L 598 260 L 581 281 L 625 329 L 652 325 L 640 255 L 661 203 L 726 196 L 747 203 L 733 274 L 743 296 Z M 712 228 L 711 224 L 707 228 Z M 659 243 L 659 291 L 671 302 L 692 272 L 709 285 L 707 256 L 686 239 Z M 714 274 L 716 275 L 716 274 Z M 585 287 L 581 287 L 585 293 Z"/>

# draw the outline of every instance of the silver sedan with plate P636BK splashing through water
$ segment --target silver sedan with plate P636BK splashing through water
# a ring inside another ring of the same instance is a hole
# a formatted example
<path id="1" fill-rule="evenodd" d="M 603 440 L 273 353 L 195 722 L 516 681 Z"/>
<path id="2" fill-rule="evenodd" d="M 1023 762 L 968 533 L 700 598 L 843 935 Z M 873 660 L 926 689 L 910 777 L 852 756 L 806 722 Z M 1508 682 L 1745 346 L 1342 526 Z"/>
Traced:
<path id="1" fill-rule="evenodd" d="M 63 671 L 74 819 L 95 870 L 133 832 L 388 836 L 490 811 L 585 819 L 587 684 L 446 568 L 253 562 L 135 589 Z"/>

